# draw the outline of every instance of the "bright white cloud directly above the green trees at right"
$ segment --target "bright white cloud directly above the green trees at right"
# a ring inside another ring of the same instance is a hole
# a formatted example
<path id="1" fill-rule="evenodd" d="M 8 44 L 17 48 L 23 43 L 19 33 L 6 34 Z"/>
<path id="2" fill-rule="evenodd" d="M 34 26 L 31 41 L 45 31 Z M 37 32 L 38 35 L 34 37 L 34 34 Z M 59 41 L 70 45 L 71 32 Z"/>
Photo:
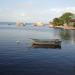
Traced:
<path id="1" fill-rule="evenodd" d="M 42 13 L 43 12 L 43 13 Z M 51 8 L 46 9 L 41 12 L 41 15 L 47 15 L 50 19 L 61 16 L 65 12 L 75 13 L 75 7 L 67 7 L 67 8 Z M 48 17 L 48 18 L 49 18 Z"/>

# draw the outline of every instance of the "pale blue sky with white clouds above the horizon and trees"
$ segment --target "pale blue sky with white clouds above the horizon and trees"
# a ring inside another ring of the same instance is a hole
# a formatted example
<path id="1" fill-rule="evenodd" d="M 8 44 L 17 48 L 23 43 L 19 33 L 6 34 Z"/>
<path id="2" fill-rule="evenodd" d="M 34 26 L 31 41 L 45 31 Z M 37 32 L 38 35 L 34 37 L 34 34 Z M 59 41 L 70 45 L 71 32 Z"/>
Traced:
<path id="1" fill-rule="evenodd" d="M 0 21 L 49 22 L 75 13 L 75 0 L 0 0 Z"/>

